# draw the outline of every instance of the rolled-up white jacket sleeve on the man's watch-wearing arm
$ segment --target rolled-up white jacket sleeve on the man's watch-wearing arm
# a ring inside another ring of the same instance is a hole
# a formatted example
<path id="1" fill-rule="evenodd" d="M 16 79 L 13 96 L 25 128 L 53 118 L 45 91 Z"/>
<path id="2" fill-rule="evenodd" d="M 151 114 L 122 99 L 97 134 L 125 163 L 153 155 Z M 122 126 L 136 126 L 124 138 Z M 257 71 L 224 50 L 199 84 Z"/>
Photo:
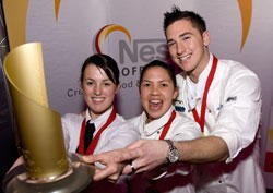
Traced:
<path id="1" fill-rule="evenodd" d="M 232 161 L 249 146 L 257 135 L 261 116 L 261 88 L 258 76 L 248 71 L 230 76 L 226 98 L 211 135 L 222 137 L 229 149 Z"/>

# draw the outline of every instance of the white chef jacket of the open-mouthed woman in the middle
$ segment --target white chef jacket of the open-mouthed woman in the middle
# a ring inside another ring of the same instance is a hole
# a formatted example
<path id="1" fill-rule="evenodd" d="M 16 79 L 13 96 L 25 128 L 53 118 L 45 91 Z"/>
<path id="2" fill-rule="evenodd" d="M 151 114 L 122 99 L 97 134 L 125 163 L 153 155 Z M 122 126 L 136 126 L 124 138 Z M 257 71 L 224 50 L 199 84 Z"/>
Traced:
<path id="1" fill-rule="evenodd" d="M 168 122 L 171 112 L 174 110 L 174 106 L 169 108 L 169 110 L 159 119 L 153 120 L 149 123 L 146 122 L 146 113 L 142 112 L 142 114 L 132 118 L 128 120 L 130 123 L 132 123 L 135 128 L 139 129 L 139 132 L 141 134 L 141 138 L 150 138 L 150 140 L 158 140 L 164 125 Z M 190 120 L 189 118 L 185 117 L 183 114 L 176 113 L 176 117 L 174 121 L 171 122 L 171 125 L 165 136 L 165 140 L 171 140 L 171 141 L 187 141 L 187 140 L 193 140 L 197 137 L 200 137 L 202 135 L 200 126 L 194 121 Z M 175 176 L 187 176 L 191 172 L 192 168 L 189 165 L 178 165 L 176 166 L 175 171 L 171 170 L 171 172 L 168 169 L 167 174 L 164 177 L 163 183 L 166 182 L 167 178 L 177 178 Z M 189 178 L 191 176 L 189 174 Z M 185 178 L 185 184 L 170 184 L 173 188 L 168 193 L 194 193 L 194 186 L 192 184 L 192 181 L 190 179 Z M 188 182 L 186 182 L 188 180 Z M 167 185 L 167 183 L 166 183 Z M 167 193 L 167 192 L 166 192 Z"/>

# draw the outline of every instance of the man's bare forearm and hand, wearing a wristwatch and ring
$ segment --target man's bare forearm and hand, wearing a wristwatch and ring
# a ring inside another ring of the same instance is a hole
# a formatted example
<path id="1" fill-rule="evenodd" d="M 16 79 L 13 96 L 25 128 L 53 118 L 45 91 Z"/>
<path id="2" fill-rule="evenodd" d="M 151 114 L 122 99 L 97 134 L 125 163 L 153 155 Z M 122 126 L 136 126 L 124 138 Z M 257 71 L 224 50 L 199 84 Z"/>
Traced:
<path id="1" fill-rule="evenodd" d="M 179 160 L 183 162 L 223 161 L 229 156 L 225 141 L 217 136 L 178 141 L 175 146 L 179 150 Z M 135 158 L 131 158 L 132 165 L 136 172 L 142 172 L 166 162 L 168 145 L 165 141 L 140 140 L 128 146 L 128 149 L 135 152 Z M 130 166 L 127 165 L 123 173 L 130 172 Z"/>

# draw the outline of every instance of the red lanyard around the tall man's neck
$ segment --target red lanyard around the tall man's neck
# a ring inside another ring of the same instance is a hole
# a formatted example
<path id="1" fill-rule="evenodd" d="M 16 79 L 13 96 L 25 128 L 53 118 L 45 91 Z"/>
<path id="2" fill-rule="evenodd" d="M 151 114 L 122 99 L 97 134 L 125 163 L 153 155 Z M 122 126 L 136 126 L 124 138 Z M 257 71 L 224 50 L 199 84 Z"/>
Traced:
<path id="1" fill-rule="evenodd" d="M 204 120 L 205 120 L 205 108 L 206 108 L 207 93 L 209 93 L 210 86 L 212 84 L 212 80 L 214 77 L 214 74 L 215 74 L 215 71 L 217 68 L 217 62 L 218 62 L 218 59 L 215 56 L 213 56 L 212 69 L 211 69 L 210 74 L 207 76 L 207 80 L 205 83 L 205 88 L 204 88 L 204 94 L 203 94 L 203 98 L 202 98 L 201 116 L 200 117 L 198 116 L 197 108 L 192 109 L 194 120 L 199 123 L 202 133 L 204 132 L 204 122 L 205 122 Z"/>

